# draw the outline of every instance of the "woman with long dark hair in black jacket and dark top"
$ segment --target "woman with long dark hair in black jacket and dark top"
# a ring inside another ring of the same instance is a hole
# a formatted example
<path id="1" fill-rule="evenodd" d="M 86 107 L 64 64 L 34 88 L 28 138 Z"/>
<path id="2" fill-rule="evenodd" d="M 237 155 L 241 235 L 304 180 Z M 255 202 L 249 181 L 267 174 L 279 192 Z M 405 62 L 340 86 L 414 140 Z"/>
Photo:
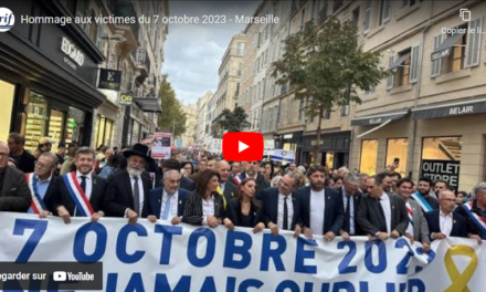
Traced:
<path id="1" fill-rule="evenodd" d="M 253 233 L 261 232 L 265 225 L 262 221 L 262 204 L 255 199 L 256 180 L 245 178 L 239 186 L 237 197 L 228 202 L 224 226 L 233 230 L 235 226 L 253 228 Z"/>

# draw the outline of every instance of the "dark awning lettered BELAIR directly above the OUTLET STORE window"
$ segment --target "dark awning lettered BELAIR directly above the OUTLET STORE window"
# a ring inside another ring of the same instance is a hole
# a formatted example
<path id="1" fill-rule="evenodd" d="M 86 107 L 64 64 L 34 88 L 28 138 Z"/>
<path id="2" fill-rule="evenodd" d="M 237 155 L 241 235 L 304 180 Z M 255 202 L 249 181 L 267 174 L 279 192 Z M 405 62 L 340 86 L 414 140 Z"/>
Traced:
<path id="1" fill-rule="evenodd" d="M 461 116 L 486 113 L 486 96 L 480 98 L 465 98 L 450 101 L 446 103 L 435 103 L 420 105 L 412 109 L 412 118 L 436 118 L 447 116 Z"/>

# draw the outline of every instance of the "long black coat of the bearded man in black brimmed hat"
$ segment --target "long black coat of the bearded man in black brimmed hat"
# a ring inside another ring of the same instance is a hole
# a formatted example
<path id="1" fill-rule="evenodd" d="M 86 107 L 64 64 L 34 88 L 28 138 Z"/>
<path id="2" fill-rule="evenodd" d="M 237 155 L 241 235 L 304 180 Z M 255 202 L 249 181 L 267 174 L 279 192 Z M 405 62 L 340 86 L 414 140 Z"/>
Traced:
<path id="1" fill-rule="evenodd" d="M 152 185 L 150 178 L 144 174 L 141 175 L 141 181 L 144 185 L 144 207 L 140 210 L 141 216 L 140 213 L 138 216 L 146 218 L 148 215 L 149 192 Z M 109 178 L 104 208 L 108 217 L 125 217 L 127 208 L 135 211 L 130 176 L 127 170 L 116 173 Z"/>

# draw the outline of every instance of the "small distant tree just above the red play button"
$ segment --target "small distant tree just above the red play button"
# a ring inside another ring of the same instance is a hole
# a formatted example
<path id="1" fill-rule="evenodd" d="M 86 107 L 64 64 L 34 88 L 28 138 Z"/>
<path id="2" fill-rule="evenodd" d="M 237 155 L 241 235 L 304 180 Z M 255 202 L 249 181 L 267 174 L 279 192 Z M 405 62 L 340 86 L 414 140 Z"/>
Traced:
<path id="1" fill-rule="evenodd" d="M 244 128 L 250 127 L 251 124 L 246 122 L 249 115 L 243 107 L 236 106 L 233 112 L 224 108 L 220 115 L 218 122 L 212 126 L 212 133 L 214 137 L 221 137 L 223 131 L 225 132 L 242 132 Z"/>

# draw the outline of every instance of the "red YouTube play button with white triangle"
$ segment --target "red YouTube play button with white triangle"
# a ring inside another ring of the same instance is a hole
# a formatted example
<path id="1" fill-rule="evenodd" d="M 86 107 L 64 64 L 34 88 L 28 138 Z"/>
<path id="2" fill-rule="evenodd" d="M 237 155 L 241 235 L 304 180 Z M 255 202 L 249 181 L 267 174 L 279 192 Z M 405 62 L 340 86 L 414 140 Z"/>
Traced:
<path id="1" fill-rule="evenodd" d="M 263 136 L 253 132 L 233 132 L 223 136 L 223 157 L 231 161 L 254 161 L 263 158 Z"/>

